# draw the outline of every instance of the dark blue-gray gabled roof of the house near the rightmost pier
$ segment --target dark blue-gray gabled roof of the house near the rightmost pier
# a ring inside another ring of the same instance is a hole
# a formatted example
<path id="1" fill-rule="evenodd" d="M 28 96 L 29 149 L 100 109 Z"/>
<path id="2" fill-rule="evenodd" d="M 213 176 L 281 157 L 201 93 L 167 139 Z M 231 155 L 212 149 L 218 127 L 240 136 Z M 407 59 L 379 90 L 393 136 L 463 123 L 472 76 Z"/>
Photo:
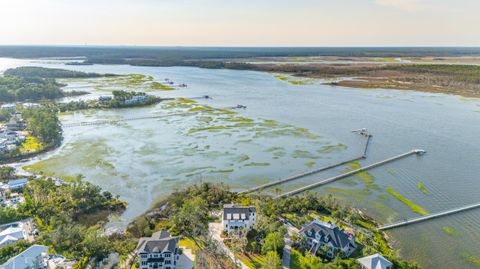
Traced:
<path id="1" fill-rule="evenodd" d="M 309 236 L 308 231 L 311 231 L 312 234 Z M 343 230 L 338 229 L 337 226 L 331 223 L 324 223 L 318 220 L 307 224 L 300 230 L 300 233 L 309 238 L 315 238 L 315 234 L 320 234 L 321 242 L 325 242 L 324 238 L 328 236 L 328 242 L 331 242 L 335 248 L 344 248 L 350 243 L 350 236 L 346 234 Z M 316 239 L 316 238 L 315 238 Z"/>

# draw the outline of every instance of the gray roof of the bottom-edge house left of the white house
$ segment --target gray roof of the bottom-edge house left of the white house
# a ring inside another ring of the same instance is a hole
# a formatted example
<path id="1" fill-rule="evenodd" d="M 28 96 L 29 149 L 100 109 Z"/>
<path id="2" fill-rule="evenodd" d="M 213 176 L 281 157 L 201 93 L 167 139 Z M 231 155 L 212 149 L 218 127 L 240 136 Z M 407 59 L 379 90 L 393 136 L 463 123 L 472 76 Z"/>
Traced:
<path id="1" fill-rule="evenodd" d="M 137 245 L 138 253 L 152 252 L 172 252 L 175 253 L 178 248 L 178 237 L 171 237 L 170 234 L 161 230 L 152 235 L 152 237 L 142 237 Z"/>

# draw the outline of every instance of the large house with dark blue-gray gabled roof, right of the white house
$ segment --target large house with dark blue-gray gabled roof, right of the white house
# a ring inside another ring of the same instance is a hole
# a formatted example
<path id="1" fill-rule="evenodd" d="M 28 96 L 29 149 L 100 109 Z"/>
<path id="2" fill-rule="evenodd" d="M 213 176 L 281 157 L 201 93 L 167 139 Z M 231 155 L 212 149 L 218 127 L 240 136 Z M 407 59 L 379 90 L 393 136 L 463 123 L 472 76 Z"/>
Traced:
<path id="1" fill-rule="evenodd" d="M 337 253 L 347 258 L 356 248 L 355 235 L 330 222 L 314 220 L 305 225 L 299 234 L 305 239 L 305 247 L 314 255 L 323 251 L 328 258 L 334 258 Z"/>

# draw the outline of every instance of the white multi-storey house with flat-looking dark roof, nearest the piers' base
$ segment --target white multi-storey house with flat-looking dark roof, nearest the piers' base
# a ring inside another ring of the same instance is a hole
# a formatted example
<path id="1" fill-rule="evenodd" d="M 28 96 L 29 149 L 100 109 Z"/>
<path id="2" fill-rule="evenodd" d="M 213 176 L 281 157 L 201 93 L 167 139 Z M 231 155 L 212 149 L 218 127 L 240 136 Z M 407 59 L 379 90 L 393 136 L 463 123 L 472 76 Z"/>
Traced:
<path id="1" fill-rule="evenodd" d="M 223 207 L 222 227 L 224 231 L 250 230 L 256 222 L 257 210 L 255 207 L 238 205 L 225 205 Z"/>

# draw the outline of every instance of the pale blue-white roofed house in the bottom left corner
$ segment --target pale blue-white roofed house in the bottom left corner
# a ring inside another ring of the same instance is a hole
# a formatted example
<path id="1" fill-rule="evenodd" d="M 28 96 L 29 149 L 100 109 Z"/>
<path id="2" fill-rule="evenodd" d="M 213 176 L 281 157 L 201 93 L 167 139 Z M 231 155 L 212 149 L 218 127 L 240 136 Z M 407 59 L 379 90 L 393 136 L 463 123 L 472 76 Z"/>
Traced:
<path id="1" fill-rule="evenodd" d="M 48 247 L 33 245 L 0 265 L 0 269 L 44 269 Z"/>

